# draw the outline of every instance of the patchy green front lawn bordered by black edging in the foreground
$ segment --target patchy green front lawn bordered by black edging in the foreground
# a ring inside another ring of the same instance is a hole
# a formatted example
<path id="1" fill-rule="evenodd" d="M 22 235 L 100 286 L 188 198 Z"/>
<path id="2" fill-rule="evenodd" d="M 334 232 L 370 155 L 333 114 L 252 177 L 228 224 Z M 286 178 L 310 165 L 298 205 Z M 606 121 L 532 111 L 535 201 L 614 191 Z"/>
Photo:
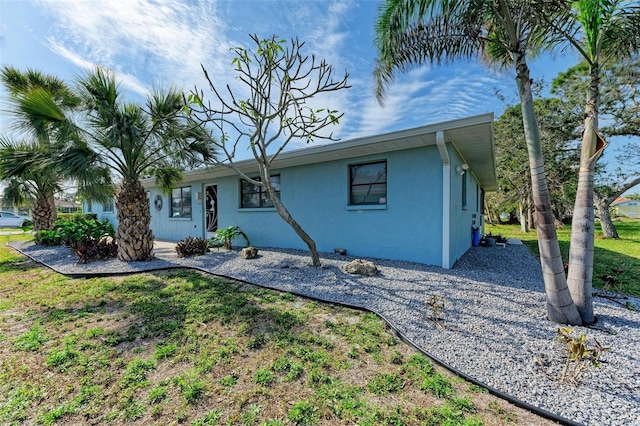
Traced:
<path id="1" fill-rule="evenodd" d="M 69 279 L 0 237 L 0 424 L 550 424 L 376 315 L 172 271 Z"/>

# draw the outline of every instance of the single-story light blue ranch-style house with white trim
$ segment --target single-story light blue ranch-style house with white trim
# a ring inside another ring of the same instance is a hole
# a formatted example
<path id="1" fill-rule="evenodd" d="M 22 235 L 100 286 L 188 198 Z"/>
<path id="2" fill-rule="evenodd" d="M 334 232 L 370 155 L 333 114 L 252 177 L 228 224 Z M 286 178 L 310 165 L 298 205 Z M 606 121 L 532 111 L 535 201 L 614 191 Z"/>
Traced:
<path id="1" fill-rule="evenodd" d="M 255 160 L 237 165 L 258 176 Z M 497 188 L 493 114 L 287 151 L 271 180 L 320 252 L 450 268 L 471 247 L 472 229 L 483 233 L 484 193 Z M 187 172 L 171 194 L 143 185 L 158 239 L 239 226 L 254 246 L 306 250 L 263 189 L 229 168 Z M 113 203 L 85 211 L 115 223 Z"/>

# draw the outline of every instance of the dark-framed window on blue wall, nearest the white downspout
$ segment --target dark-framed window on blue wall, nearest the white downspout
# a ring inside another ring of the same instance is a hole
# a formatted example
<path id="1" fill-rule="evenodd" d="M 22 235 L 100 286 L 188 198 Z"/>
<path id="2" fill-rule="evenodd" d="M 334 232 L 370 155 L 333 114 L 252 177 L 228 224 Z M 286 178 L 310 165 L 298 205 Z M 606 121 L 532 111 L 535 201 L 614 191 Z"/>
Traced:
<path id="1" fill-rule="evenodd" d="M 387 204 L 387 162 L 349 166 L 349 205 Z"/>

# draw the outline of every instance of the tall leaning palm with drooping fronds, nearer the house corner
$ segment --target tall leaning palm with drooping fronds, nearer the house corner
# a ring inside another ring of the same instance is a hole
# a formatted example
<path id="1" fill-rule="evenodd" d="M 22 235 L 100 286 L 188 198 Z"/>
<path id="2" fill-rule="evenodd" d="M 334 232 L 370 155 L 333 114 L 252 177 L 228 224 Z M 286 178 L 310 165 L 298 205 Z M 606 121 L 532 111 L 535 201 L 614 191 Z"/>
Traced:
<path id="1" fill-rule="evenodd" d="M 563 4 L 544 3 L 544 13 L 556 16 Z M 541 8 L 540 2 L 515 0 L 387 0 L 376 24 L 378 59 L 374 79 L 376 95 L 382 100 L 397 72 L 424 63 L 480 58 L 498 68 L 515 69 L 529 155 L 547 316 L 557 323 L 580 324 L 558 244 L 527 64 L 528 55 L 552 41 L 547 37 L 547 29 L 531 19 Z"/>

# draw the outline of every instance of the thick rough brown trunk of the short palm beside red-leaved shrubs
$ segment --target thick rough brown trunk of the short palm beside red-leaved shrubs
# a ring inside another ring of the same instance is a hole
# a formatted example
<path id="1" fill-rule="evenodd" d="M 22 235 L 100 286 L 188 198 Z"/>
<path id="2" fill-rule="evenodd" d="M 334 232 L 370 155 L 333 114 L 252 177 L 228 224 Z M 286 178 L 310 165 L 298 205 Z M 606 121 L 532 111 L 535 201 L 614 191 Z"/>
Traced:
<path id="1" fill-rule="evenodd" d="M 147 192 L 135 178 L 124 179 L 116 194 L 118 212 L 118 259 L 125 262 L 149 260 L 153 255 L 153 232 Z"/>

